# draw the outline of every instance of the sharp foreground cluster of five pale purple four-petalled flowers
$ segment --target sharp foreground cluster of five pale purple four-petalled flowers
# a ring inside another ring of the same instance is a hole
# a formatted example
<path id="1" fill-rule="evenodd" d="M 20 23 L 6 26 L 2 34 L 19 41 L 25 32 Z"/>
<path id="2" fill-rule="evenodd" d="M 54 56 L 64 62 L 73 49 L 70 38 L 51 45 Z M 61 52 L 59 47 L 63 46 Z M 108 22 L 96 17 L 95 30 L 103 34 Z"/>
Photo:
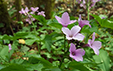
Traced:
<path id="1" fill-rule="evenodd" d="M 63 26 L 62 32 L 66 35 L 66 39 L 68 40 L 77 40 L 77 41 L 83 41 L 85 36 L 80 33 L 81 28 L 84 25 L 88 25 L 91 28 L 91 25 L 89 24 L 88 20 L 82 20 L 81 15 L 79 15 L 78 23 L 79 25 L 73 26 L 71 30 L 67 28 L 69 24 L 75 23 L 77 20 L 70 20 L 70 17 L 67 12 L 64 12 L 62 17 L 55 16 L 57 21 Z M 85 44 L 92 48 L 95 52 L 95 54 L 99 54 L 99 49 L 101 48 L 101 42 L 100 41 L 94 41 L 95 40 L 95 32 L 93 33 L 92 40 L 88 40 L 88 44 Z M 70 57 L 73 58 L 76 61 L 83 61 L 83 55 L 85 54 L 85 50 L 82 48 L 76 49 L 76 45 L 71 43 L 70 49 Z"/>

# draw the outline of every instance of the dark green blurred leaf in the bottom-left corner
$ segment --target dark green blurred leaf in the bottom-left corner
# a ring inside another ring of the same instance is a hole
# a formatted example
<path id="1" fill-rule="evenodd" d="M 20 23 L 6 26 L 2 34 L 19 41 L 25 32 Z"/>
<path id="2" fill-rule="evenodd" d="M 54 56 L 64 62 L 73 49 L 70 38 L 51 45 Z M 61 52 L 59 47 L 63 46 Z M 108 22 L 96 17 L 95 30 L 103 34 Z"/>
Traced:
<path id="1" fill-rule="evenodd" d="M 27 71 L 27 70 L 22 65 L 10 64 L 9 66 L 1 69 L 0 71 Z"/>

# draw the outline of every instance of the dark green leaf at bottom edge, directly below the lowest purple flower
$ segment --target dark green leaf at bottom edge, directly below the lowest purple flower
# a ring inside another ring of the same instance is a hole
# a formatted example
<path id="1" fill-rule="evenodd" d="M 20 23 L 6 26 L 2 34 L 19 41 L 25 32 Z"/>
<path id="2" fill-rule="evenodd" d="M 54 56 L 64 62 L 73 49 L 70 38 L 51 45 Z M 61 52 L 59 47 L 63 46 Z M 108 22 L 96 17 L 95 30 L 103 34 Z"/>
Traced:
<path id="1" fill-rule="evenodd" d="M 72 68 L 72 69 L 78 69 L 80 71 L 89 71 L 89 69 L 87 69 L 84 66 L 84 63 L 79 63 L 79 62 L 76 62 L 76 61 L 70 62 L 69 67 Z"/>

